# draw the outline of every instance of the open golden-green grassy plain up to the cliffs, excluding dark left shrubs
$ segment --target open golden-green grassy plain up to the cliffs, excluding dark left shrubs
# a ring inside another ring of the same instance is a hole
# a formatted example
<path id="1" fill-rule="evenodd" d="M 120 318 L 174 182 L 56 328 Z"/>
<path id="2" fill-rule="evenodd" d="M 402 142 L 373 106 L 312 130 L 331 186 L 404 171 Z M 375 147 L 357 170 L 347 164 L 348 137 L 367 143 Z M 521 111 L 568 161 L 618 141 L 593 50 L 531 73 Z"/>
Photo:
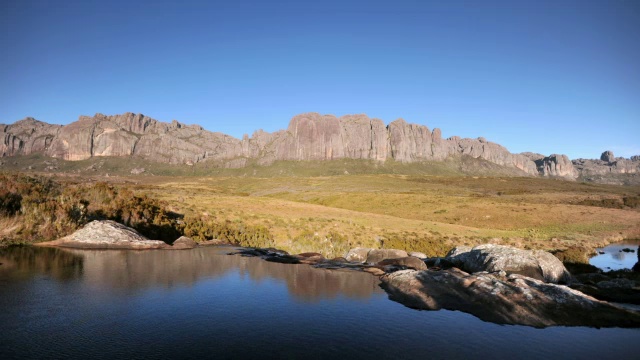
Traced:
<path id="1" fill-rule="evenodd" d="M 444 255 L 457 245 L 485 242 L 562 250 L 640 238 L 638 186 L 516 177 L 477 161 L 380 167 L 283 162 L 216 170 L 167 165 L 135 176 L 126 174 L 144 163 L 91 161 L 58 161 L 66 175 L 56 178 L 72 184 L 106 181 L 161 200 L 185 219 L 239 231 L 266 228 L 271 239 L 265 245 L 294 253 L 342 256 L 364 246 Z M 8 232 L 15 222 L 0 219 L 0 228 Z"/>

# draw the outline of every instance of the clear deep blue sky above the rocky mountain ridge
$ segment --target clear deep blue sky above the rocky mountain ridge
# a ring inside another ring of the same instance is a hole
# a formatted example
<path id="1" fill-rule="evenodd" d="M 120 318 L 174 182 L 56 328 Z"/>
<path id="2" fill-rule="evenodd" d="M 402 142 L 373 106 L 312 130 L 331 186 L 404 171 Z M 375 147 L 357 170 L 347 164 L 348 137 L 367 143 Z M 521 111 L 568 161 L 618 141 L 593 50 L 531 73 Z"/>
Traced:
<path id="1" fill-rule="evenodd" d="M 235 137 L 366 113 L 512 152 L 640 154 L 640 0 L 0 1 L 0 122 Z"/>

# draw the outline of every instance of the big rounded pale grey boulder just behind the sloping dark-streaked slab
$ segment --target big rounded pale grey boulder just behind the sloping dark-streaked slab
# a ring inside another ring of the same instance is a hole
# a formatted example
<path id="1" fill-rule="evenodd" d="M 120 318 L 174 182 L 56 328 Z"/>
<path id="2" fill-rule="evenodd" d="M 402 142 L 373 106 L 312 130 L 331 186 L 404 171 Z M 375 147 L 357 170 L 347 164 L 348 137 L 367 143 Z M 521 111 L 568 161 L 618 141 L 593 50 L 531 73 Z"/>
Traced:
<path id="1" fill-rule="evenodd" d="M 446 259 L 470 273 L 505 271 L 507 274 L 522 274 L 551 283 L 571 281 L 571 274 L 562 262 L 546 251 L 484 244 L 469 251 L 454 249 L 452 252 L 455 255 Z"/>

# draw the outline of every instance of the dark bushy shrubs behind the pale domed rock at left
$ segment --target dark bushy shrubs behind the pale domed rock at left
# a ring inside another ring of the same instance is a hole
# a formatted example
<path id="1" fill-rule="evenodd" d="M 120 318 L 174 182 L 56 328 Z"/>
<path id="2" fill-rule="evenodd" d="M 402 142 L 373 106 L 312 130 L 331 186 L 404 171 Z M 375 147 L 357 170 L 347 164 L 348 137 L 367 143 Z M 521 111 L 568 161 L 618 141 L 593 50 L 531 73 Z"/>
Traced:
<path id="1" fill-rule="evenodd" d="M 146 195 L 107 183 L 60 183 L 48 177 L 0 175 L 0 214 L 17 223 L 1 241 L 54 240 L 91 220 L 114 220 L 153 239 L 175 240 L 180 216 Z"/>

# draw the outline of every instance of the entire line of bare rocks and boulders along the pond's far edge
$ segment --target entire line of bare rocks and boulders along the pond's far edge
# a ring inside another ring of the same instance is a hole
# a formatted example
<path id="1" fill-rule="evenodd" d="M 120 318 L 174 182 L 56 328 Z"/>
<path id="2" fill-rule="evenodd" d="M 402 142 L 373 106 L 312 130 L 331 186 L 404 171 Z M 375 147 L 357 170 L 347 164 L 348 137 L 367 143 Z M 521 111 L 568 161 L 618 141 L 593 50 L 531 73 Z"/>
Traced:
<path id="1" fill-rule="evenodd" d="M 217 245 L 212 241 L 206 245 Z M 195 241 L 181 237 L 173 244 L 149 240 L 113 221 L 94 221 L 75 233 L 40 246 L 88 249 L 191 249 Z M 421 310 L 448 309 L 497 324 L 592 327 L 640 327 L 640 312 L 598 300 L 582 291 L 593 276 L 572 276 L 554 255 L 484 244 L 458 247 L 442 258 L 396 249 L 351 249 L 345 257 L 326 259 L 320 253 L 288 254 L 268 248 L 242 248 L 229 255 L 265 261 L 306 264 L 316 268 L 364 271 L 380 278 L 389 298 Z M 605 276 L 606 278 L 606 276 Z M 602 280 L 602 279 L 600 279 Z M 633 280 L 609 281 L 609 300 L 624 287 L 626 299 L 638 298 Z M 588 292 L 588 291 L 587 291 Z M 592 295 L 597 296 L 597 293 Z"/>

